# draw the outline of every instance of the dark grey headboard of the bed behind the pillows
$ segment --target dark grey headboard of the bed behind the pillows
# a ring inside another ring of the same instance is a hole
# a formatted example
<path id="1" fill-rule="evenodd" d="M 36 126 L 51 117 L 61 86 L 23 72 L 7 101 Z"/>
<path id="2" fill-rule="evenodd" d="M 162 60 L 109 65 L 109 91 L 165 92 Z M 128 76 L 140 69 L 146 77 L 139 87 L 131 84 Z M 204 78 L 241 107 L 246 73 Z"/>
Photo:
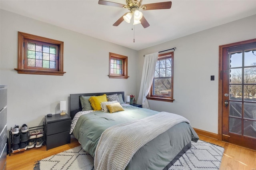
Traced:
<path id="1" fill-rule="evenodd" d="M 107 93 L 80 93 L 80 94 L 70 94 L 70 117 L 74 118 L 76 113 L 82 111 L 82 105 L 80 103 L 79 96 L 100 96 L 100 95 L 114 95 L 114 94 L 122 94 L 122 98 L 124 101 L 124 91 L 119 92 L 107 92 Z"/>

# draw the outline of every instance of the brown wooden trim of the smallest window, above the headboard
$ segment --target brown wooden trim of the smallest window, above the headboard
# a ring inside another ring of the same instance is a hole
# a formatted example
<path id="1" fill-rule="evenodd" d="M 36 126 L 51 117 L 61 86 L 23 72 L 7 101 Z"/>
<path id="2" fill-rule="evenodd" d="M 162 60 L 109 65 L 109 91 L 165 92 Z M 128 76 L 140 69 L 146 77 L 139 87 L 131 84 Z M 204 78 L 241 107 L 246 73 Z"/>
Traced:
<path id="1" fill-rule="evenodd" d="M 116 59 L 122 59 L 123 60 L 123 74 L 118 75 L 118 74 L 112 74 L 111 73 L 111 59 L 116 58 Z M 128 79 L 128 57 L 120 54 L 115 54 L 115 53 L 109 53 L 109 78 L 112 79 Z"/>

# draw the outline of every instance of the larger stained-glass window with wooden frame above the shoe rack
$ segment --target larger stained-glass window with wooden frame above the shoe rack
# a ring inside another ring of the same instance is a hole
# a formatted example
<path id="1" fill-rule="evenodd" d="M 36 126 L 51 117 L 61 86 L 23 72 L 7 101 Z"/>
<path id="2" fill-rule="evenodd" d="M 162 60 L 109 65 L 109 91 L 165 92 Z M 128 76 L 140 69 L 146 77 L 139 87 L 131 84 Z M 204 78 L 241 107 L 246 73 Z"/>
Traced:
<path id="1" fill-rule="evenodd" d="M 18 32 L 18 68 L 21 74 L 63 75 L 64 42 Z"/>

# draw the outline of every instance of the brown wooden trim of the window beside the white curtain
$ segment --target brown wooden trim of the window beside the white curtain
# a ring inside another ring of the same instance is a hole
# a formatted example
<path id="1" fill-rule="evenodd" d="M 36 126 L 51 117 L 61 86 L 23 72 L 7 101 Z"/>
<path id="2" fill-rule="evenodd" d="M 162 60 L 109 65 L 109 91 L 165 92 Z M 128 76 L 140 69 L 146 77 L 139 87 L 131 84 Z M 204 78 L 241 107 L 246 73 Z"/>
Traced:
<path id="1" fill-rule="evenodd" d="M 148 93 L 148 95 L 146 96 L 146 98 L 147 99 L 149 99 L 149 100 L 156 100 L 156 101 L 166 101 L 166 102 L 173 102 L 174 101 L 174 99 L 173 99 L 173 65 L 174 65 L 174 52 L 172 51 L 172 52 L 168 52 L 168 53 L 163 53 L 163 54 L 159 54 L 158 55 L 158 59 L 164 59 L 164 58 L 168 58 L 168 56 L 170 56 L 171 55 L 171 58 L 172 58 L 172 77 L 171 77 L 171 89 L 172 89 L 172 91 L 171 91 L 171 96 L 166 96 L 166 97 L 160 97 L 160 96 L 158 96 L 158 95 L 152 95 L 153 94 L 153 83 L 152 83 L 152 85 L 151 85 L 151 87 L 150 87 L 150 91 L 149 91 L 149 93 Z"/>

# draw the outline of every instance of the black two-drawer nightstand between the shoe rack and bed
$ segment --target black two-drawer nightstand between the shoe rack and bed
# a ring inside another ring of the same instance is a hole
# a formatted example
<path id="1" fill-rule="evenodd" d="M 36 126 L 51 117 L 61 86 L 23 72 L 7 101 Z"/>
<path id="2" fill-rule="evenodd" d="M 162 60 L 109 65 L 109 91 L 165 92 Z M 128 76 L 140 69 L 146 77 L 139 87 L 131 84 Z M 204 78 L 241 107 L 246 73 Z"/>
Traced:
<path id="1" fill-rule="evenodd" d="M 46 150 L 70 143 L 71 117 L 69 115 L 45 116 Z"/>

